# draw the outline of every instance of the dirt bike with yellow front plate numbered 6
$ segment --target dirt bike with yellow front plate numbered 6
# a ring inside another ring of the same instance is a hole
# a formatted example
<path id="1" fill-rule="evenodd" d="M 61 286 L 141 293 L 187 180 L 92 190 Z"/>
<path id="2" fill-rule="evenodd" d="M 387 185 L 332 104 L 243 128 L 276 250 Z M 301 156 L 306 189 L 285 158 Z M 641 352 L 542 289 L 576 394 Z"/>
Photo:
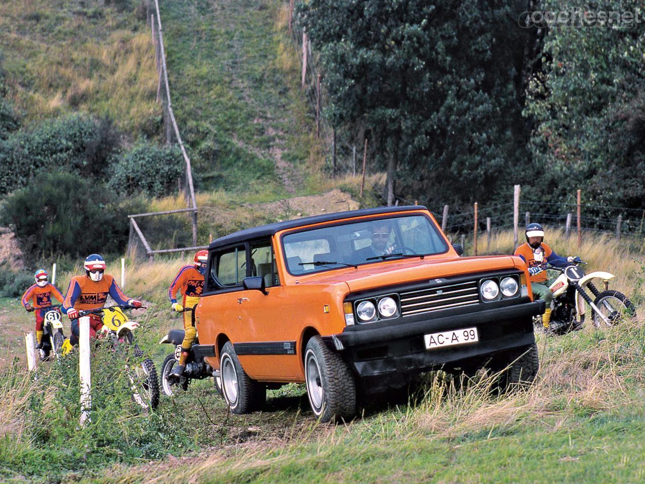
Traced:
<path id="1" fill-rule="evenodd" d="M 144 353 L 134 342 L 133 334 L 134 330 L 139 327 L 139 323 L 130 321 L 123 312 L 124 309 L 130 308 L 134 307 L 130 305 L 115 305 L 79 311 L 79 318 L 88 316 L 89 314 L 101 316 L 101 320 L 107 328 L 106 336 L 112 341 L 115 354 L 124 356 L 124 350 L 128 347 L 134 350 L 136 363 L 132 367 L 126 363 L 132 399 L 143 410 L 150 410 L 151 408 L 157 408 L 157 405 L 159 405 L 159 379 L 157 378 L 157 370 L 152 359 L 145 358 L 141 361 Z M 97 336 L 100 334 L 99 332 Z"/>

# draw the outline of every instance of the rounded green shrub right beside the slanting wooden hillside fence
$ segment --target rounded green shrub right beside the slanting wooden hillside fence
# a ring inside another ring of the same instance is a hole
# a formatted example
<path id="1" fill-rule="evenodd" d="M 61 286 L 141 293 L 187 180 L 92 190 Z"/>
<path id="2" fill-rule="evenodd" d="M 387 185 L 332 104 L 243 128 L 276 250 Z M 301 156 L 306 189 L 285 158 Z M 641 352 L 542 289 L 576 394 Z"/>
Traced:
<path id="1" fill-rule="evenodd" d="M 183 163 L 179 147 L 139 141 L 113 158 L 108 186 L 116 193 L 162 196 L 177 187 Z"/>

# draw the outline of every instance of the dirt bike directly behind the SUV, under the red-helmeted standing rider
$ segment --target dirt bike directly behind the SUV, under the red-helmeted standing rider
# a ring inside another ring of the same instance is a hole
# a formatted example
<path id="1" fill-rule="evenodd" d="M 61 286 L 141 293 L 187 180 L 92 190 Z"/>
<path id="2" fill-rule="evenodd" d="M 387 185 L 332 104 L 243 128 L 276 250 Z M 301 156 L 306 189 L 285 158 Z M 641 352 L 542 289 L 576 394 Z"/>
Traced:
<path id="1" fill-rule="evenodd" d="M 192 312 L 193 324 L 195 323 L 194 308 L 185 308 L 179 312 Z M 188 358 L 186 359 L 186 367 L 182 376 L 177 377 L 172 374 L 172 369 L 179 363 L 179 356 L 181 355 L 181 343 L 184 341 L 184 330 L 172 329 L 159 341 L 160 345 L 175 345 L 175 350 L 164 359 L 161 365 L 161 391 L 164 395 L 174 396 L 177 388 L 188 390 L 188 385 L 194 379 L 204 379 L 208 377 L 215 378 L 215 387 L 219 394 L 222 394 L 222 381 L 219 376 L 219 371 L 213 368 L 204 361 L 204 356 L 212 356 L 212 345 L 199 345 L 199 335 L 190 348 Z"/>

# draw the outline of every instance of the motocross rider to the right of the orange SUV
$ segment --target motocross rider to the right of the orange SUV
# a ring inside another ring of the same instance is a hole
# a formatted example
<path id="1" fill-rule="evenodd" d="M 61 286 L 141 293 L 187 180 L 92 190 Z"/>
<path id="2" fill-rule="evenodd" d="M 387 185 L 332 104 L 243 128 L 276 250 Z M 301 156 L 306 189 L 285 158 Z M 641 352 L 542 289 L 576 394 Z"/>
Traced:
<path id="1" fill-rule="evenodd" d="M 528 265 L 531 290 L 537 299 L 546 301 L 546 309 L 542 315 L 542 325 L 545 329 L 556 330 L 557 326 L 564 324 L 562 321 L 551 322 L 551 301 L 553 294 L 550 285 L 555 278 L 547 279 L 546 265 L 566 267 L 574 259 L 573 256 L 561 257 L 543 242 L 544 229 L 539 223 L 530 223 L 526 226 L 526 243 L 515 249 L 515 256 L 522 258 Z"/>

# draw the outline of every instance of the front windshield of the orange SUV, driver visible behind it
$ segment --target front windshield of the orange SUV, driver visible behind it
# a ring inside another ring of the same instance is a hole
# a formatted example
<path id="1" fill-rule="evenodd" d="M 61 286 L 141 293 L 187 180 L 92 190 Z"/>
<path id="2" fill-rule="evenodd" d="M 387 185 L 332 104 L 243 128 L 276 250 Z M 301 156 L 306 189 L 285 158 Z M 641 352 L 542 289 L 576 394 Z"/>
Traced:
<path id="1" fill-rule="evenodd" d="M 430 218 L 399 216 L 315 228 L 283 237 L 284 256 L 293 275 L 348 265 L 442 254 L 448 246 Z M 385 256 L 385 257 L 384 257 Z"/>

